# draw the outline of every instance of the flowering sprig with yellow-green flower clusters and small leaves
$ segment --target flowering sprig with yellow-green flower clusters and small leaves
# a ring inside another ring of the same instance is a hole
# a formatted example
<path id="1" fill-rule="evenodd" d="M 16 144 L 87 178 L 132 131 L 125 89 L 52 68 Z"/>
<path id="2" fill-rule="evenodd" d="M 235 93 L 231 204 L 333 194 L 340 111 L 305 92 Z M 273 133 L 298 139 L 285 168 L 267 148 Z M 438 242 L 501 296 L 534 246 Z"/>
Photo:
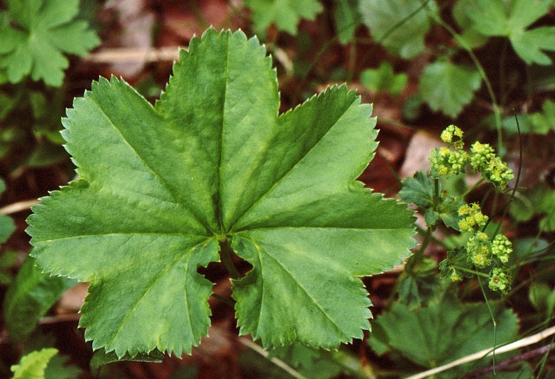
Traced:
<path id="1" fill-rule="evenodd" d="M 463 280 L 465 275 L 485 276 L 489 278 L 491 290 L 507 294 L 512 281 L 507 265 L 512 243 L 503 234 L 495 234 L 493 238 L 486 234 L 489 217 L 482 213 L 478 203 L 468 204 L 463 199 L 483 182 L 505 190 L 510 180 L 514 179 L 514 173 L 487 143 L 476 141 L 470 153 L 466 152 L 463 131 L 459 127 L 449 125 L 442 131 L 441 139 L 449 146 L 431 150 L 431 178 L 417 173 L 415 178 L 406 179 L 399 196 L 426 209 L 426 224 L 430 231 L 442 220 L 447 227 L 469 235 L 466 245 L 447 252 L 447 259 L 440 264 L 444 276 L 449 276 L 454 282 Z M 440 178 L 464 173 L 468 166 L 481 176 L 473 187 L 460 196 L 442 190 Z M 416 258 L 416 255 L 412 257 Z"/>

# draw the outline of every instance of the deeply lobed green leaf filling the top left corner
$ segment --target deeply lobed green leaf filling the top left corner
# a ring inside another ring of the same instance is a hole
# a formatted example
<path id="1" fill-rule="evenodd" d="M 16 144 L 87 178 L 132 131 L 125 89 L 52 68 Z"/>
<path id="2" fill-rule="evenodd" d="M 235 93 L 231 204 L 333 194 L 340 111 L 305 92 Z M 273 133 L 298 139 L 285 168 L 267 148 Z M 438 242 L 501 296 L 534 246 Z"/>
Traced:
<path id="1" fill-rule="evenodd" d="M 87 22 L 76 21 L 79 0 L 7 0 L 0 20 L 0 71 L 11 83 L 26 76 L 59 87 L 69 61 L 99 45 Z"/>

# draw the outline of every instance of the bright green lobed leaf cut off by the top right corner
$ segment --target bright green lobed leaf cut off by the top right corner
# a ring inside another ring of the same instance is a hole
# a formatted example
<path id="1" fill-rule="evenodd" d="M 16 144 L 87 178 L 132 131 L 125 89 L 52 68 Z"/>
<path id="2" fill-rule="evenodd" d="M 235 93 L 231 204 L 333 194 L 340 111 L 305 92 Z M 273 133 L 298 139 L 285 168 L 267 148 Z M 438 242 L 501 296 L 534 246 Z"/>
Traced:
<path id="1" fill-rule="evenodd" d="M 555 51 L 555 27 L 527 29 L 547 15 L 552 0 L 467 0 L 473 29 L 484 36 L 507 36 L 526 64 L 552 64 L 542 50 Z"/>

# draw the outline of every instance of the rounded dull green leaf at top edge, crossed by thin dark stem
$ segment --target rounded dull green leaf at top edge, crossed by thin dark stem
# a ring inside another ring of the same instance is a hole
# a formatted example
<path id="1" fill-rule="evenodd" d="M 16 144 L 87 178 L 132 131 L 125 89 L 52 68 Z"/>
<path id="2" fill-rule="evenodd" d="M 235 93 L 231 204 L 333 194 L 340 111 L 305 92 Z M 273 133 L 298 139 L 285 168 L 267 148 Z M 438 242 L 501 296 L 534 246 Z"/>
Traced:
<path id="1" fill-rule="evenodd" d="M 411 59 L 424 51 L 424 36 L 431 27 L 427 12 L 438 8 L 434 0 L 425 5 L 411 0 L 359 1 L 364 24 L 391 54 Z"/>

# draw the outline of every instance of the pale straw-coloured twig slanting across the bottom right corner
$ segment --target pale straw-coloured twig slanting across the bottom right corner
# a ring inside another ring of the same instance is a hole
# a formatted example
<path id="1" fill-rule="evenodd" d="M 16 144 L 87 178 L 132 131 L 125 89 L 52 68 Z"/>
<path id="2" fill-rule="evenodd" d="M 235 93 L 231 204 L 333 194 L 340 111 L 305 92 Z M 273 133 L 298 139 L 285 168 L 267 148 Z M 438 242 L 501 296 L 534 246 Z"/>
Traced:
<path id="1" fill-rule="evenodd" d="M 522 338 L 519 341 L 514 341 L 513 343 L 509 343 L 507 345 L 500 345 L 499 347 L 495 348 L 495 352 L 496 354 L 501 354 L 503 352 L 509 352 L 512 350 L 517 350 L 519 348 L 524 348 L 525 346 L 540 342 L 542 341 L 542 339 L 552 336 L 553 334 L 555 334 L 555 327 L 550 327 L 545 329 L 544 331 L 540 331 L 540 333 L 536 333 L 536 334 L 533 334 L 532 336 Z M 479 352 L 475 352 L 474 354 L 467 355 L 466 357 L 456 359 L 455 361 L 450 362 L 448 364 L 444 364 L 443 366 L 435 367 L 434 369 L 423 371 L 413 376 L 408 376 L 405 379 L 427 378 L 428 376 L 432 376 L 436 373 L 440 373 L 447 369 L 452 369 L 453 367 L 460 366 L 461 364 L 473 362 L 477 359 L 482 359 L 484 357 L 489 357 L 490 355 L 493 354 L 493 350 L 494 349 L 491 349 L 491 348 L 484 349 Z"/>

